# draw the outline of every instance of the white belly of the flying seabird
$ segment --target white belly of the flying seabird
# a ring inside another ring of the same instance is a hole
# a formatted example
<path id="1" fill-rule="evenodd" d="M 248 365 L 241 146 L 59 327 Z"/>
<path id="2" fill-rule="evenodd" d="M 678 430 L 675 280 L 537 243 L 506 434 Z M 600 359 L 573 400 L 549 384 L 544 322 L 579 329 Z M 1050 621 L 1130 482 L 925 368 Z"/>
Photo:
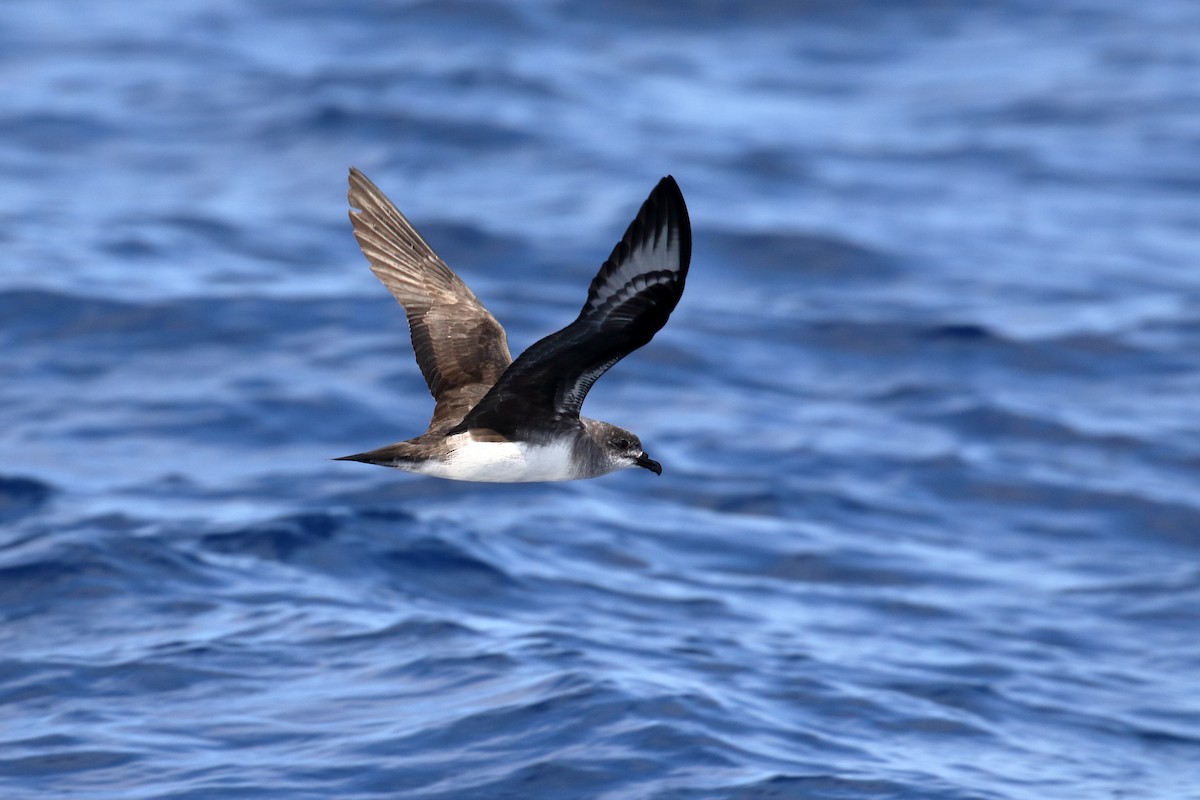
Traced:
<path id="1" fill-rule="evenodd" d="M 569 444 L 476 441 L 469 433 L 452 437 L 446 444 L 457 447 L 443 461 L 414 464 L 413 471 L 452 481 L 488 483 L 570 481 L 576 477 Z"/>

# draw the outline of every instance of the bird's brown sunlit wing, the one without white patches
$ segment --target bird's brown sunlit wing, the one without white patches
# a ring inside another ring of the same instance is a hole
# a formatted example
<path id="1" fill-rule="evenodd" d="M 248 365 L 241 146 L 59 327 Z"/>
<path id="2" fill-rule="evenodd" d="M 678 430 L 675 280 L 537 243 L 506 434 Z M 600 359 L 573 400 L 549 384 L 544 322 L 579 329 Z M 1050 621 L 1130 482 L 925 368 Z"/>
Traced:
<path id="1" fill-rule="evenodd" d="M 350 222 L 371 271 L 408 315 L 416 363 L 437 405 L 430 431 L 445 431 L 512 362 L 504 329 L 383 192 L 350 168 Z"/>

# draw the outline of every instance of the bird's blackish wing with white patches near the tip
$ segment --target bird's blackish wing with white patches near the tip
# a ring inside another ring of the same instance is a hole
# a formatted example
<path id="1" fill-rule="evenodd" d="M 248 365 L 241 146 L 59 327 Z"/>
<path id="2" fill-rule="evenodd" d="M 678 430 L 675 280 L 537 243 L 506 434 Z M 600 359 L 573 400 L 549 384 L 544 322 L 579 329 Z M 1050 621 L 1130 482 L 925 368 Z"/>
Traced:
<path id="1" fill-rule="evenodd" d="M 455 429 L 521 435 L 578 419 L 596 379 L 666 325 L 690 261 L 688 207 L 668 175 L 592 281 L 578 318 L 522 353 Z"/>

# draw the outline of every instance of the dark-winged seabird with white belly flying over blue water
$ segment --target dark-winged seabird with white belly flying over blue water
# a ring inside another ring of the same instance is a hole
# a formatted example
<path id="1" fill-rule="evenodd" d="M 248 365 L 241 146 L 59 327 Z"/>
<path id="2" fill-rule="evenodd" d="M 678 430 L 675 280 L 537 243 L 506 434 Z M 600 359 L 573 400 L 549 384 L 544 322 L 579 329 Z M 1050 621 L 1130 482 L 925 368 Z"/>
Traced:
<path id="1" fill-rule="evenodd" d="M 404 307 L 436 405 L 415 439 L 337 461 L 499 483 L 571 481 L 628 467 L 662 474 L 636 435 L 580 416 L 580 408 L 600 375 L 666 325 L 683 294 L 691 223 L 673 178 L 642 204 L 575 321 L 516 361 L 496 318 L 354 168 L 349 201 L 371 271 Z"/>

